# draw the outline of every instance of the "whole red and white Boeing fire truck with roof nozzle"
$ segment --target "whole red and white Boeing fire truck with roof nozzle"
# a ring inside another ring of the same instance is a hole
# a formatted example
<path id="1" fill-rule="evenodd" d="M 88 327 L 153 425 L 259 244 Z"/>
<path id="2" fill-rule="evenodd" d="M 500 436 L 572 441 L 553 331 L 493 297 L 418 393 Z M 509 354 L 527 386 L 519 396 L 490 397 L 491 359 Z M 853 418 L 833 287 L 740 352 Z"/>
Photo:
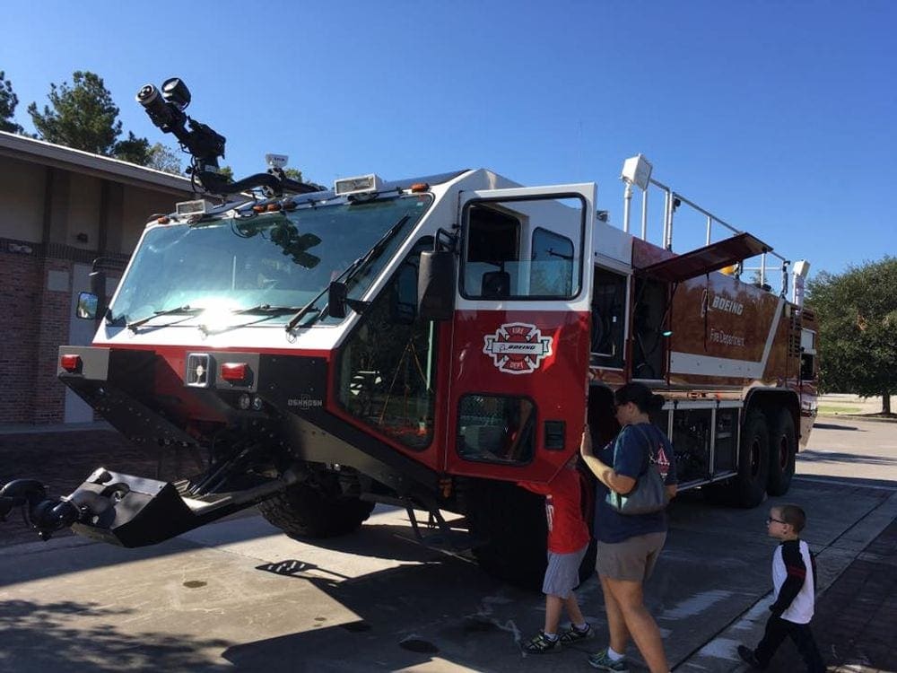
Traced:
<path id="1" fill-rule="evenodd" d="M 594 183 L 521 187 L 490 170 L 324 191 L 274 158 L 225 183 L 224 139 L 183 114 L 179 86 L 142 102 L 193 153 L 206 196 L 231 196 L 147 223 L 109 305 L 101 283 L 83 294 L 96 337 L 60 347 L 58 375 L 131 441 L 200 467 L 177 482 L 98 468 L 61 499 L 18 480 L 0 509 L 24 505 L 44 537 L 74 526 L 143 546 L 253 504 L 294 536 L 333 536 L 391 503 L 425 541 L 530 582 L 544 511 L 516 484 L 577 453 L 588 397 L 611 438 L 613 390 L 630 380 L 666 397 L 654 420 L 681 489 L 744 506 L 788 490 L 816 406 L 814 316 L 787 299 L 806 263 L 776 257 L 786 286 L 772 292 L 771 247 L 650 178 L 642 157 L 624 169 L 622 228 Z M 633 188 L 664 194 L 660 245 L 645 210 L 629 232 Z M 707 244 L 675 254 L 683 205 L 706 217 Z"/>

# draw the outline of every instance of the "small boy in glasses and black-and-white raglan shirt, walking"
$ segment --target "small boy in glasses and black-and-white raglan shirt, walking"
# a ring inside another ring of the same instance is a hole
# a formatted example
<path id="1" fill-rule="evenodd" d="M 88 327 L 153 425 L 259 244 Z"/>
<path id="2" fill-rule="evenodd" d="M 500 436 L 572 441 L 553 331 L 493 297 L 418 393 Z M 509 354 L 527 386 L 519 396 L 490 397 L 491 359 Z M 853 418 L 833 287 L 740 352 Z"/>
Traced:
<path id="1" fill-rule="evenodd" d="M 800 539 L 806 513 L 795 504 L 770 509 L 766 532 L 781 540 L 772 553 L 772 585 L 776 599 L 757 647 L 738 645 L 738 656 L 754 669 L 767 669 L 779 645 L 790 638 L 806 664 L 808 673 L 823 673 L 822 654 L 810 630 L 814 612 L 816 564 L 810 547 Z"/>

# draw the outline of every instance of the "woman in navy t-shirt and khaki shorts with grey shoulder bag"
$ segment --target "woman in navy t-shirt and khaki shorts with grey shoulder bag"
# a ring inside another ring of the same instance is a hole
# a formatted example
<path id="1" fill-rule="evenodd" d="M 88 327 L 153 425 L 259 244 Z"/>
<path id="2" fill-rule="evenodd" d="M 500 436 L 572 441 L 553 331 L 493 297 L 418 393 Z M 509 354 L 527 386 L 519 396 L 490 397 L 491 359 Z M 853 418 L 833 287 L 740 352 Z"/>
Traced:
<path id="1" fill-rule="evenodd" d="M 589 396 L 589 405 L 597 404 L 597 400 L 598 396 Z M 667 673 L 669 663 L 660 631 L 645 607 L 643 594 L 643 585 L 666 542 L 666 512 L 623 514 L 607 502 L 611 491 L 630 493 L 652 462 L 664 477 L 667 502 L 675 496 L 673 446 L 650 420 L 650 414 L 663 407 L 664 398 L 653 394 L 642 383 L 628 383 L 614 391 L 614 403 L 617 422 L 622 426 L 616 439 L 596 453 L 587 425 L 579 448 L 598 482 L 594 529 L 596 570 L 610 632 L 608 646 L 591 655 L 588 663 L 595 669 L 628 673 L 624 652 L 631 638 L 651 673 Z"/>

